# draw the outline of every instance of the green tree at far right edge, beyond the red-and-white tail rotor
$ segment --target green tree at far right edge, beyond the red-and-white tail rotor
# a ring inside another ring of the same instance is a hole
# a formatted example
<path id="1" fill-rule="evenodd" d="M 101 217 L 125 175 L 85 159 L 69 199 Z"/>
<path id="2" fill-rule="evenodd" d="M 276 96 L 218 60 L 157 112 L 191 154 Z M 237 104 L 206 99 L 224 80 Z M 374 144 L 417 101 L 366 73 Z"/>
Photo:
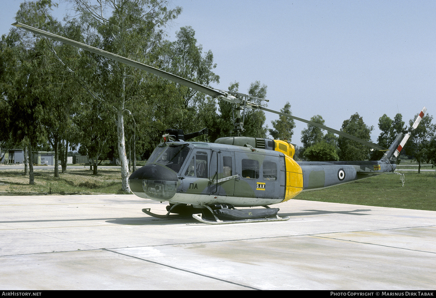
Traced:
<path id="1" fill-rule="evenodd" d="M 418 114 L 413 119 L 409 120 L 409 127 L 412 127 Z M 432 124 L 433 116 L 429 114 L 422 117 L 418 127 L 410 132 L 410 137 L 404 146 L 405 153 L 412 155 L 413 159 L 418 162 L 418 173 L 421 173 L 421 163 L 431 161 L 433 148 L 431 147 L 434 142 L 436 125 Z"/>

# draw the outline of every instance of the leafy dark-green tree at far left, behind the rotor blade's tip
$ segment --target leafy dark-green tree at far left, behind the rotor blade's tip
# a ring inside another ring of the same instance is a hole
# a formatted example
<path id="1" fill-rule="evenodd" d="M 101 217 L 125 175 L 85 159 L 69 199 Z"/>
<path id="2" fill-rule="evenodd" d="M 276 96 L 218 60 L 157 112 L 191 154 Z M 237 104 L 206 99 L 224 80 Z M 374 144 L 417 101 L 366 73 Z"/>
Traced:
<path id="1" fill-rule="evenodd" d="M 24 2 L 20 5 L 16 19 L 58 32 L 59 23 L 50 14 L 51 7 L 55 5 L 50 0 Z M 26 138 L 29 144 L 29 184 L 33 184 L 32 148 L 36 148 L 38 142 L 47 142 L 42 119 L 54 92 L 51 85 L 54 65 L 50 56 L 51 43 L 17 28 L 12 28 L 7 37 L 2 37 L 2 41 L 9 53 L 7 66 L 3 68 L 5 88 L 2 91 L 10 106 L 14 138 Z"/>

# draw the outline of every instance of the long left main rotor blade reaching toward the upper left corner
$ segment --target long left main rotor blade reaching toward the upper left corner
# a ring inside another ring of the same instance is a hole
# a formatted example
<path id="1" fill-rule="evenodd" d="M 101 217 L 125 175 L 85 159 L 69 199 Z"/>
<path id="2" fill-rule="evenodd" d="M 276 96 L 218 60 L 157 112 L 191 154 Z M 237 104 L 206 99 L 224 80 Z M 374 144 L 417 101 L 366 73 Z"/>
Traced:
<path id="1" fill-rule="evenodd" d="M 163 71 L 163 70 L 154 68 L 152 66 L 149 66 L 149 65 L 137 62 L 135 60 L 131 60 L 131 59 L 126 58 L 126 57 L 122 57 L 122 56 L 119 56 L 119 55 L 116 55 L 116 54 L 112 54 L 110 52 L 98 49 L 96 47 L 91 47 L 91 46 L 89 46 L 87 44 L 82 44 L 82 43 L 80 43 L 78 41 L 75 41 L 75 40 L 71 40 L 71 39 L 68 39 L 68 38 L 65 38 L 65 37 L 61 37 L 59 35 L 56 35 L 56 34 L 53 34 L 53 33 L 50 33 L 50 32 L 44 31 L 44 30 L 40 30 L 40 29 L 31 27 L 31 26 L 27 26 L 25 24 L 18 23 L 18 22 L 13 23 L 11 25 L 19 27 L 19 28 L 23 28 L 23 29 L 25 29 L 27 31 L 31 31 L 31 32 L 36 33 L 36 34 L 41 34 L 42 36 L 45 36 L 45 37 L 48 37 L 48 38 L 51 38 L 51 39 L 54 39 L 54 40 L 58 40 L 58 41 L 63 42 L 65 44 L 72 45 L 73 47 L 78 47 L 78 48 L 81 48 L 83 50 L 87 50 L 87 51 L 89 51 L 91 53 L 98 54 L 98 55 L 101 55 L 103 57 L 106 57 L 106 58 L 109 58 L 109 59 L 112 59 L 112 60 L 116 60 L 116 61 L 122 62 L 124 64 L 127 64 L 127 65 L 130 65 L 130 66 L 139 68 L 141 70 L 145 70 L 146 72 L 149 72 L 151 74 L 155 74 L 155 75 L 157 75 L 159 77 L 163 77 L 165 79 L 171 80 L 171 81 L 176 82 L 178 84 L 182 84 L 184 86 L 187 86 L 187 87 L 190 87 L 192 89 L 198 90 L 198 91 L 200 91 L 200 92 L 202 92 L 204 94 L 210 95 L 212 97 L 227 97 L 228 96 L 228 94 L 225 94 L 221 90 L 216 90 L 216 89 L 213 89 L 213 88 L 210 88 L 210 87 L 203 86 L 203 85 L 195 83 L 195 82 L 193 82 L 191 80 L 184 79 L 183 77 L 179 77 L 179 76 L 176 76 L 174 74 L 167 73 L 166 71 Z"/>

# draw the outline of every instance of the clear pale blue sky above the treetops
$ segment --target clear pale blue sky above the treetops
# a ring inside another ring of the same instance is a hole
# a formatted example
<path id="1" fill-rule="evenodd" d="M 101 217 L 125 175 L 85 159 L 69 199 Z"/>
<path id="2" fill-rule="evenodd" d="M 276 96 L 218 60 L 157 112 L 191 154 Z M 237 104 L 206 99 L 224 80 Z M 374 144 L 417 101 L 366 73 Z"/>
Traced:
<path id="1" fill-rule="evenodd" d="M 7 33 L 21 1 L 2 0 L 1 30 Z M 268 107 L 286 101 L 292 114 L 340 129 L 358 112 L 380 131 L 378 118 L 398 111 L 408 124 L 426 106 L 436 116 L 436 1 L 173 0 L 181 16 L 170 38 L 191 26 L 218 64 L 227 90 L 238 81 L 246 93 L 259 80 L 268 86 Z M 59 19 L 65 7 L 54 14 Z M 267 114 L 266 124 L 277 117 Z M 436 119 L 433 121 L 436 123 Z M 292 142 L 301 145 L 296 123 Z"/>

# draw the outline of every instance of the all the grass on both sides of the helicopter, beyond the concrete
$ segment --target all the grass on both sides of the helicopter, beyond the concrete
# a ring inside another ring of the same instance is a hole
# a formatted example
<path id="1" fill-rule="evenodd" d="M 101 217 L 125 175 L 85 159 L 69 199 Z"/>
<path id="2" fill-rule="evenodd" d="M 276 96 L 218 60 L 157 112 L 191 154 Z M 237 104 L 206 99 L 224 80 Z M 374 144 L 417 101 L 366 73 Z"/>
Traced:
<path id="1" fill-rule="evenodd" d="M 53 171 L 34 168 L 34 185 L 23 170 L 1 170 L 0 195 L 29 194 L 123 194 L 119 169 L 99 167 L 99 174 L 92 175 L 89 167 L 68 169 L 67 174 L 53 177 Z M 401 169 L 399 170 L 401 172 Z M 404 172 L 405 184 L 400 175 L 379 175 L 360 181 L 307 191 L 295 199 L 342 204 L 358 204 L 392 208 L 436 211 L 436 172 Z"/>

